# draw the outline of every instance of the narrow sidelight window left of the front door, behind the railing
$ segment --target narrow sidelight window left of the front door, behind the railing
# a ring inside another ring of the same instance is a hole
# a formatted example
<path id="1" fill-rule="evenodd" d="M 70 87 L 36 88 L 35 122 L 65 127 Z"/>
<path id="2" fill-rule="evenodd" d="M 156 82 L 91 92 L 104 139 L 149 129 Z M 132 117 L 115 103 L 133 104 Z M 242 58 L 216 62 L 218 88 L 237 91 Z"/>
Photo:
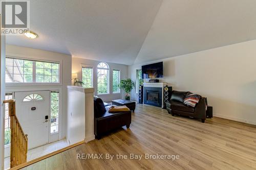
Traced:
<path id="1" fill-rule="evenodd" d="M 12 99 L 12 93 L 5 94 L 5 100 Z M 11 142 L 11 129 L 10 129 L 10 117 L 8 103 L 5 104 L 5 145 Z"/>

